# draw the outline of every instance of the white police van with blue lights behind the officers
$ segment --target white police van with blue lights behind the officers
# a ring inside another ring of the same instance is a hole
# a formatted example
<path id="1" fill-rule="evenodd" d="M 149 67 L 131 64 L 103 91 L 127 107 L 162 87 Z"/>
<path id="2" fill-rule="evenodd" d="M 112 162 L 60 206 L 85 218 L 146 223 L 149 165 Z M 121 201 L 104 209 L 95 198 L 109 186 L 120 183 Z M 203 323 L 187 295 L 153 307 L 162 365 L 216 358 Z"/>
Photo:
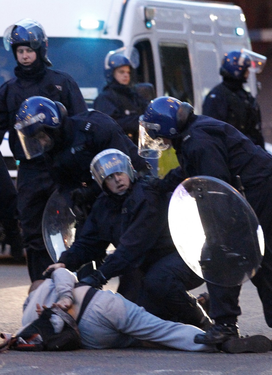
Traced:
<path id="1" fill-rule="evenodd" d="M 104 59 L 109 51 L 125 47 L 130 56 L 136 48 L 140 58 L 137 81 L 152 83 L 156 96 L 189 102 L 195 113 L 201 114 L 205 95 L 221 81 L 224 53 L 251 50 L 241 8 L 223 3 L 23 0 L 16 7 L 7 2 L 1 5 L 0 38 L 8 26 L 22 18 L 42 24 L 53 69 L 68 72 L 76 80 L 90 108 L 105 84 Z M 12 52 L 7 52 L 0 40 L 0 84 L 13 77 L 15 65 Z M 255 96 L 253 73 L 248 86 Z M 0 150 L 10 157 L 7 140 Z M 168 168 L 171 166 L 175 161 Z"/>

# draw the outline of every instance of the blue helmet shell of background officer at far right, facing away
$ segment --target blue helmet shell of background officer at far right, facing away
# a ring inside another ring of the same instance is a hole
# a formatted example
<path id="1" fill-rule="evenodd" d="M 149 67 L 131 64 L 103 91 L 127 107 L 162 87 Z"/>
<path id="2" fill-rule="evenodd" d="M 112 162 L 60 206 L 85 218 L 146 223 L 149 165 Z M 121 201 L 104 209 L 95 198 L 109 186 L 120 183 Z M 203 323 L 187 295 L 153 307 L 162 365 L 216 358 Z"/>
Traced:
<path id="1" fill-rule="evenodd" d="M 246 81 L 245 72 L 251 66 L 251 58 L 244 51 L 231 51 L 225 53 L 220 74 L 224 78 L 237 81 Z"/>

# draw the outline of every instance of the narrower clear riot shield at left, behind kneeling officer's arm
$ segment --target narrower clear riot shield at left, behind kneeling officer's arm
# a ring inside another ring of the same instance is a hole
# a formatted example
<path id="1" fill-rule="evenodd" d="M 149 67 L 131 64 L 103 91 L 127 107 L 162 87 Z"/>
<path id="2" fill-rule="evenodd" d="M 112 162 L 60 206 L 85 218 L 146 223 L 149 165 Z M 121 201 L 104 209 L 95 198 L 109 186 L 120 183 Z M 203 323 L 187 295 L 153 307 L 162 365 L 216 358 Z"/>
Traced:
<path id="1" fill-rule="evenodd" d="M 42 219 L 43 240 L 54 263 L 74 242 L 75 225 L 75 215 L 65 198 L 55 190 L 46 203 Z"/>

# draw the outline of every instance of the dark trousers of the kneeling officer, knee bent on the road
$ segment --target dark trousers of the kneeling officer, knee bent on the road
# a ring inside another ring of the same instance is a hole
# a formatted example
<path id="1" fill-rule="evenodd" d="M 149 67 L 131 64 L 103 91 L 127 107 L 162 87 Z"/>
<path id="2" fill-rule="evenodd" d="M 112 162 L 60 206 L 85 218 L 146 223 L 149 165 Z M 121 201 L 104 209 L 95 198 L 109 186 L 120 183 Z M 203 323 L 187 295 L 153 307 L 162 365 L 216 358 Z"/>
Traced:
<path id="1" fill-rule="evenodd" d="M 147 269 L 138 305 L 164 320 L 199 326 L 204 315 L 189 290 L 203 282 L 175 251 Z"/>

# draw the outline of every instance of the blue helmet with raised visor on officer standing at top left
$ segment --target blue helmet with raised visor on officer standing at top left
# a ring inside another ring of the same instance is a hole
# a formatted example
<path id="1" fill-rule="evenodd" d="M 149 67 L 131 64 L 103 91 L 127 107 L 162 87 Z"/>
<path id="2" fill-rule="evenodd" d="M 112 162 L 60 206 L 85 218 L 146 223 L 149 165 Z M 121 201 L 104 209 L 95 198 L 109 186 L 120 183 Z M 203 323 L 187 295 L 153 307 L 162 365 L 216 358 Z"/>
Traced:
<path id="1" fill-rule="evenodd" d="M 25 18 L 9 26 L 4 31 L 3 42 L 7 51 L 10 50 L 10 46 L 12 47 L 16 60 L 16 48 L 20 45 L 25 45 L 34 49 L 47 66 L 52 66 L 51 61 L 47 57 L 48 38 L 42 25 L 37 21 Z"/>

